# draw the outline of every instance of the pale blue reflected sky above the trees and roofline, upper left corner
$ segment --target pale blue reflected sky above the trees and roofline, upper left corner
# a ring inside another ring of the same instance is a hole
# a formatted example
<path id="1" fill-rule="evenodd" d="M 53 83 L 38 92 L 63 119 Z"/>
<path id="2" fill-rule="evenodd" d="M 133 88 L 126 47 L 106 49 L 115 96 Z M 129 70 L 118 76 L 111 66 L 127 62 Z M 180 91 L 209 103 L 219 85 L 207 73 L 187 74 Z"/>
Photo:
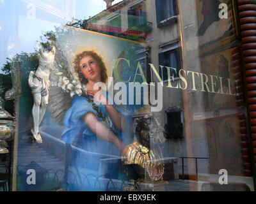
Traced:
<path id="1" fill-rule="evenodd" d="M 0 0 L 0 67 L 6 57 L 34 52 L 42 32 L 72 18 L 93 17 L 105 8 L 103 0 Z"/>

